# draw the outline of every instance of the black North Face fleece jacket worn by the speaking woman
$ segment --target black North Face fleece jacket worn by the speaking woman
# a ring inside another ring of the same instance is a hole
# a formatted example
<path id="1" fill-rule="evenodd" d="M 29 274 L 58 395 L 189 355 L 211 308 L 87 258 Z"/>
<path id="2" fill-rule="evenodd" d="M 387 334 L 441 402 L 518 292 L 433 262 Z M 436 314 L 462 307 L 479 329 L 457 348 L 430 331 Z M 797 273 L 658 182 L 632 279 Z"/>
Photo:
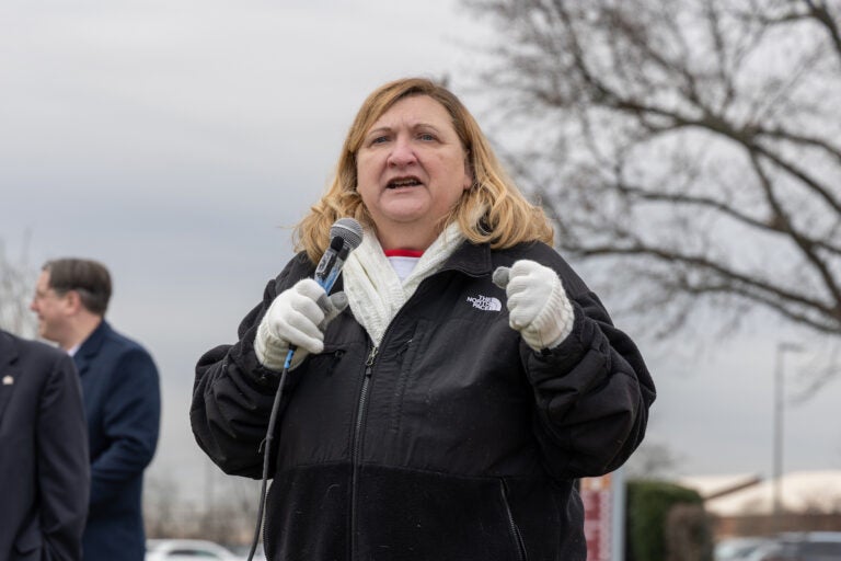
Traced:
<path id="1" fill-rule="evenodd" d="M 534 352 L 508 325 L 500 265 L 557 272 L 572 334 Z M 303 254 L 268 283 L 234 345 L 198 362 L 191 421 L 227 473 L 260 478 L 278 373 L 253 351 Z M 341 289 L 341 283 L 336 286 Z M 642 442 L 655 388 L 634 343 L 551 248 L 465 242 L 398 312 L 381 344 L 345 310 L 323 353 L 289 373 L 266 504 L 270 560 L 584 561 L 575 480 Z"/>

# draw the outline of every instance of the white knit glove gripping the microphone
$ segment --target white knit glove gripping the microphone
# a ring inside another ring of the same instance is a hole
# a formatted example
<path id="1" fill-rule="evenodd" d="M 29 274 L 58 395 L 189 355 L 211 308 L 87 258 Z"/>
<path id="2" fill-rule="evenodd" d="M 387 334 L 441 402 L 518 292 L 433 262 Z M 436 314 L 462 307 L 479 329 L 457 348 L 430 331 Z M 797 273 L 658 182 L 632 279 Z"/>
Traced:
<path id="1" fill-rule="evenodd" d="M 345 293 L 327 297 L 312 278 L 299 280 L 280 293 L 263 316 L 254 337 L 257 359 L 266 368 L 281 370 L 290 344 L 297 347 L 290 368 L 301 364 L 309 353 L 321 353 L 327 323 L 346 307 Z"/>

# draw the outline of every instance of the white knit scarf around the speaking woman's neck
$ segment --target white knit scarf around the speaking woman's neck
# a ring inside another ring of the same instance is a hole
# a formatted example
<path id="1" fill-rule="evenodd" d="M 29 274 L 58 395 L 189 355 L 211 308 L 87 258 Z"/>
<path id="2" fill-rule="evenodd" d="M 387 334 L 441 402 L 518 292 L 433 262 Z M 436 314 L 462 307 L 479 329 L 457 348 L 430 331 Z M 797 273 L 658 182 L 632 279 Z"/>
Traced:
<path id="1" fill-rule="evenodd" d="M 420 282 L 439 271 L 464 241 L 458 224 L 448 226 L 418 260 L 401 284 L 373 232 L 366 230 L 362 243 L 348 255 L 342 270 L 350 311 L 379 346 L 385 329 Z"/>

